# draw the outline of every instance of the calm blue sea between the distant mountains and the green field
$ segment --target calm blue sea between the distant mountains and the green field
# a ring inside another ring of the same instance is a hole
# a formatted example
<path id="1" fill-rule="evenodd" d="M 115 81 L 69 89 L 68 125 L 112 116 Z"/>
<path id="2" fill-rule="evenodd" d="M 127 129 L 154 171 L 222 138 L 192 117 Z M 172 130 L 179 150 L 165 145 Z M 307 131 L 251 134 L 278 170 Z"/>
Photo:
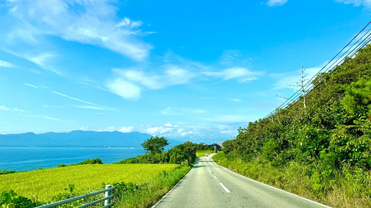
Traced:
<path id="1" fill-rule="evenodd" d="M 113 163 L 144 153 L 143 148 L 33 148 L 0 147 L 0 170 L 35 170 L 101 158 Z"/>

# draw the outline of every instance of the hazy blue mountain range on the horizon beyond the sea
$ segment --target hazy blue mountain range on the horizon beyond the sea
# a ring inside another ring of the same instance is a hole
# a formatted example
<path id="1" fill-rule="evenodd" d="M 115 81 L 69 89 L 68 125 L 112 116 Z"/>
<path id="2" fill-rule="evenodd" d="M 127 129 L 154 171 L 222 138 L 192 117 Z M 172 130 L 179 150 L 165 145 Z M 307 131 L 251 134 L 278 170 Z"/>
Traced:
<path id="1" fill-rule="evenodd" d="M 0 147 L 141 147 L 151 135 L 133 131 L 71 131 L 35 134 L 0 134 Z M 170 141 L 172 145 L 180 142 Z"/>

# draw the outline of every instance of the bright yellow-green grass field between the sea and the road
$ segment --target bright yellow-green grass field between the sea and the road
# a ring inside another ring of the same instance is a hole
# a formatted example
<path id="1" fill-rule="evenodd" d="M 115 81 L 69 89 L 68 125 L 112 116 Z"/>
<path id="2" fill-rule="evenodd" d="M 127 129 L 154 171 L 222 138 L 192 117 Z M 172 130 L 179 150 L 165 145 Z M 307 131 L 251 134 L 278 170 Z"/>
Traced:
<path id="1" fill-rule="evenodd" d="M 12 189 L 21 196 L 45 204 L 53 196 L 65 192 L 69 184 L 75 186 L 75 195 L 82 195 L 104 189 L 106 184 L 132 182 L 145 184 L 145 188 L 140 192 L 118 194 L 115 206 L 147 207 L 155 203 L 190 169 L 189 166 L 176 164 L 93 164 L 50 168 L 0 175 L 0 192 Z"/>

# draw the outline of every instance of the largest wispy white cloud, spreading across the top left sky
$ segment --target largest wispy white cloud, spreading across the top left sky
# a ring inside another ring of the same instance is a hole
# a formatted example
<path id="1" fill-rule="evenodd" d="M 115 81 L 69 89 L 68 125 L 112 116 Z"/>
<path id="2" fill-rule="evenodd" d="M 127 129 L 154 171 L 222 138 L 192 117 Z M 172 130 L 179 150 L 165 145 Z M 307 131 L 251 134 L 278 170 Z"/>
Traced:
<path id="1" fill-rule="evenodd" d="M 142 33 L 132 30 L 142 21 L 119 20 L 118 7 L 109 0 L 25 0 L 14 1 L 9 7 L 13 12 L 5 18 L 6 24 L 17 23 L 7 33 L 9 41 L 20 38 L 35 43 L 43 41 L 43 36 L 58 36 L 98 45 L 136 61 L 144 60 L 152 49 L 135 37 Z"/>

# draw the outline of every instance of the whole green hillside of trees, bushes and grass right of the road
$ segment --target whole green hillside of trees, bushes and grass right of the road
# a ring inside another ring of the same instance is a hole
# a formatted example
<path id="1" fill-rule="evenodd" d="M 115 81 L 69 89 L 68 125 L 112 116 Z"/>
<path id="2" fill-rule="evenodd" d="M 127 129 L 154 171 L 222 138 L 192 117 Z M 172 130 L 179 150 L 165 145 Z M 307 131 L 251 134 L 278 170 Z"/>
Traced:
<path id="1" fill-rule="evenodd" d="M 239 128 L 214 160 L 325 204 L 371 207 L 371 46 L 319 76 L 306 107 L 301 97 Z"/>

